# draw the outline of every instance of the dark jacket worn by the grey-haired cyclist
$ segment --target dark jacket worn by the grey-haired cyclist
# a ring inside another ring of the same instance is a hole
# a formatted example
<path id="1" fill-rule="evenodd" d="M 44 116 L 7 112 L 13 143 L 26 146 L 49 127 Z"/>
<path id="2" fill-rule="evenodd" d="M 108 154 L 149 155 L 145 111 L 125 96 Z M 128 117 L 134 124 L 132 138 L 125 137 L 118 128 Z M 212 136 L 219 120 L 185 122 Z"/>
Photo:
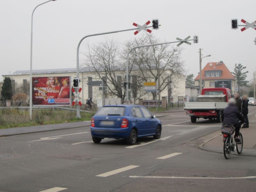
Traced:
<path id="1" fill-rule="evenodd" d="M 238 107 L 236 105 L 230 104 L 223 110 L 221 120 L 223 124 L 236 125 L 238 124 L 239 120 L 244 122 L 244 117 L 241 113 L 239 113 Z"/>

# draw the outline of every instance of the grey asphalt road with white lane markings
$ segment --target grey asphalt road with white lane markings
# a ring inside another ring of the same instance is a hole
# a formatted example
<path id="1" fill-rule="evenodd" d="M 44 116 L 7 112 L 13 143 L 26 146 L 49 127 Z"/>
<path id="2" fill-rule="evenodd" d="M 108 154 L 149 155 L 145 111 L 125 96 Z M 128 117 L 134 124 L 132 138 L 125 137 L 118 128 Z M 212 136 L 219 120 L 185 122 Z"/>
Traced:
<path id="1" fill-rule="evenodd" d="M 249 118 L 255 112 L 250 107 Z M 220 123 L 192 124 L 185 112 L 163 115 L 161 139 L 133 146 L 115 139 L 94 144 L 89 127 L 2 137 L 0 155 L 13 157 L 0 158 L 0 191 L 256 191 L 255 157 L 226 160 L 197 148 L 196 138 Z"/>

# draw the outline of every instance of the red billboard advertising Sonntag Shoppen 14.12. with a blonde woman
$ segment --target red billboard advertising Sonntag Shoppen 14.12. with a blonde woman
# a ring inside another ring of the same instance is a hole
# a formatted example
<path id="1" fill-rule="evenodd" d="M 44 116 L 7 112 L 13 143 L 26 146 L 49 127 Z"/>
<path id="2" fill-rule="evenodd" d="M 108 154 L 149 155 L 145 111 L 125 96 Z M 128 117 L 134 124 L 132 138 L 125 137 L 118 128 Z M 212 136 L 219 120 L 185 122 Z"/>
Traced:
<path id="1" fill-rule="evenodd" d="M 70 76 L 32 77 L 33 105 L 70 105 Z"/>

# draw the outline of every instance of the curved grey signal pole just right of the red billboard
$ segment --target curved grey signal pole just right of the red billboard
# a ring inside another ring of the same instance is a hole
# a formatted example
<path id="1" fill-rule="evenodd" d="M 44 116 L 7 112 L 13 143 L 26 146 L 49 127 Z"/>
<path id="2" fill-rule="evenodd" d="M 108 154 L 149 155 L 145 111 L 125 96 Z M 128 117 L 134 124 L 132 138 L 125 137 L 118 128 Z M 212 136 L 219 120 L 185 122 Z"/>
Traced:
<path id="1" fill-rule="evenodd" d="M 160 25 L 159 25 L 160 26 Z M 147 26 L 146 28 L 150 28 L 152 26 Z M 105 33 L 96 33 L 96 34 L 92 34 L 92 35 L 87 35 L 84 36 L 78 43 L 77 45 L 77 49 L 76 49 L 76 77 L 79 78 L 79 48 L 80 45 L 82 43 L 82 41 L 87 38 L 87 37 L 91 37 L 91 36 L 99 36 L 99 35 L 106 35 L 106 34 L 111 34 L 111 33 L 118 33 L 118 32 L 124 32 L 124 31 L 132 31 L 132 30 L 138 30 L 139 28 L 132 28 L 132 29 L 124 29 L 124 30 L 118 30 L 118 31 L 109 31 L 109 32 L 105 32 Z M 103 80 L 102 80 L 103 81 Z M 128 86 L 128 84 L 127 84 Z M 78 91 L 79 88 L 76 88 L 76 91 Z M 77 105 L 76 108 L 76 117 L 77 118 L 81 118 L 80 116 L 80 106 Z"/>

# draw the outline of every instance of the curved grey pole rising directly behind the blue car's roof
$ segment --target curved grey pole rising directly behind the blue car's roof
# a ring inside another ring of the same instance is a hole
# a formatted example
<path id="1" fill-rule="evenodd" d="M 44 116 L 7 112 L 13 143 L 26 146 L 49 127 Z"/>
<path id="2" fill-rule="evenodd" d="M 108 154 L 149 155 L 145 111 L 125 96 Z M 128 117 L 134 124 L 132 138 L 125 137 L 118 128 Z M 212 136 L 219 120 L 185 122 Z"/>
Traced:
<path id="1" fill-rule="evenodd" d="M 180 43 L 180 42 L 193 41 L 193 40 L 194 39 L 189 39 L 189 40 L 182 40 L 182 41 L 172 41 L 172 42 L 156 43 L 156 44 L 148 44 L 148 45 L 140 45 L 140 46 L 132 47 L 132 49 L 130 49 L 130 51 L 128 52 L 128 54 L 126 56 L 126 100 L 125 100 L 125 103 L 126 104 L 130 104 L 130 100 L 129 100 L 129 86 L 128 86 L 129 78 L 128 78 L 128 75 L 129 75 L 129 54 L 132 52 L 132 50 L 140 48 L 140 47 L 149 47 L 149 46 L 155 46 L 155 45 Z"/>

